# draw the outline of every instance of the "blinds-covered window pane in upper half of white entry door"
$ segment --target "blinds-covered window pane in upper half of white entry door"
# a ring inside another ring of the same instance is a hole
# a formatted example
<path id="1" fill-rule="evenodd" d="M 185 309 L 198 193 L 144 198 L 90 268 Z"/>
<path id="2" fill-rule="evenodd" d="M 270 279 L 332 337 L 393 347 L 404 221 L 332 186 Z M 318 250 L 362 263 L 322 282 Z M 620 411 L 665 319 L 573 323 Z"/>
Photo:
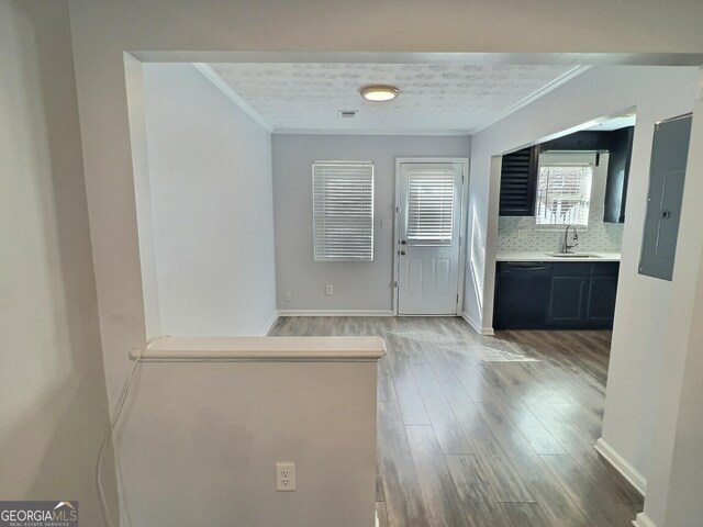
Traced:
<path id="1" fill-rule="evenodd" d="M 413 170 L 408 175 L 408 245 L 451 245 L 453 170 Z"/>

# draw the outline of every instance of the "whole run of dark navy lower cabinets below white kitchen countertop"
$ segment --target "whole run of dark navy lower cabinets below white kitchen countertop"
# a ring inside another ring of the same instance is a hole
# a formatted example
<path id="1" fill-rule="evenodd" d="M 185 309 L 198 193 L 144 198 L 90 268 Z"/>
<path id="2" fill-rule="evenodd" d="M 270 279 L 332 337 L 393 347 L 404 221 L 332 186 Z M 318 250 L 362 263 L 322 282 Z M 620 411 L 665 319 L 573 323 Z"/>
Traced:
<path id="1" fill-rule="evenodd" d="M 617 262 L 499 262 L 496 329 L 611 328 Z"/>

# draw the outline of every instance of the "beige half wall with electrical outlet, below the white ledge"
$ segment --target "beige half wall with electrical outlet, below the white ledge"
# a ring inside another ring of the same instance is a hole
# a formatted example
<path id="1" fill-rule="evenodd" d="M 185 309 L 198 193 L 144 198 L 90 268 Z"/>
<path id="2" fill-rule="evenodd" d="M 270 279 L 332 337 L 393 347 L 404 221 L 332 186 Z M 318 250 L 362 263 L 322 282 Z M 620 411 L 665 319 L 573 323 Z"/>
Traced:
<path id="1" fill-rule="evenodd" d="M 132 526 L 373 527 L 376 361 L 141 368 L 118 438 Z"/>

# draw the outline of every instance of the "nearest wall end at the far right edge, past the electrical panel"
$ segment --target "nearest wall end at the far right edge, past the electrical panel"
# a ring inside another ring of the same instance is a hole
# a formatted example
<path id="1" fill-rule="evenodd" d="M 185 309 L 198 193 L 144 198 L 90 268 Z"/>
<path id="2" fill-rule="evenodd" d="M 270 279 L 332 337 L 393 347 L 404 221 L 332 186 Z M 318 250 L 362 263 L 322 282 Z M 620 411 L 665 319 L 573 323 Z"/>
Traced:
<path id="1" fill-rule="evenodd" d="M 703 518 L 703 70 L 698 88 L 671 302 L 666 306 L 671 316 L 660 329 L 665 339 L 660 384 L 650 408 L 656 434 L 648 452 L 643 516 L 658 527 L 700 525 Z"/>

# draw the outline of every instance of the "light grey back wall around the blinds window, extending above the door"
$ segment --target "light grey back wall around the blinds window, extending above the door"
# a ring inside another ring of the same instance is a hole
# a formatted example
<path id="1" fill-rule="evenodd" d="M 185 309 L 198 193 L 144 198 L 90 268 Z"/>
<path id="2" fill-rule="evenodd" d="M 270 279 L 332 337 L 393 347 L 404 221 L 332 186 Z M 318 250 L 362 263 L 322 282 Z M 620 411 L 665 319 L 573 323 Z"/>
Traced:
<path id="1" fill-rule="evenodd" d="M 274 135 L 276 278 L 281 310 L 392 310 L 397 157 L 468 157 L 468 136 Z M 313 261 L 312 162 L 372 161 L 373 261 Z M 334 295 L 325 295 L 325 284 Z M 283 293 L 291 293 L 291 302 Z"/>

